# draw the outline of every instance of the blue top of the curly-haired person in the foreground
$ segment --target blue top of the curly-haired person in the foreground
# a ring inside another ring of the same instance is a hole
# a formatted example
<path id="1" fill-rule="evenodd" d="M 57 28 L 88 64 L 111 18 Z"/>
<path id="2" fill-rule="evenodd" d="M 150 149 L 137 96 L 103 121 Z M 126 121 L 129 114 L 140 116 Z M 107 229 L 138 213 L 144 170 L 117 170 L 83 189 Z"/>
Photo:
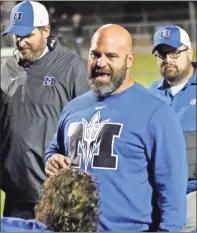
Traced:
<path id="1" fill-rule="evenodd" d="M 30 219 L 1 218 L 1 232 L 52 232 L 44 223 Z"/>

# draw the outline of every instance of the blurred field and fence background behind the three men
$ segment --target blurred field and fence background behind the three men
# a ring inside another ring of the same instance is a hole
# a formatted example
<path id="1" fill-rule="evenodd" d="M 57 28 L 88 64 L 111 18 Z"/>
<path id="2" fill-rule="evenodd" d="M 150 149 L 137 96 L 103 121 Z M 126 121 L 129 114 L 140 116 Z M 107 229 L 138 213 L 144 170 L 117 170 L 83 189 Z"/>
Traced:
<path id="1" fill-rule="evenodd" d="M 132 74 L 144 86 L 159 78 L 154 55 L 151 55 L 155 31 L 167 24 L 185 29 L 196 51 L 196 2 L 143 2 L 143 1 L 40 1 L 50 15 L 52 35 L 61 43 L 88 57 L 93 33 L 103 24 L 116 23 L 133 35 L 136 59 Z M 1 31 L 9 24 L 11 9 L 17 2 L 1 1 Z M 13 43 L 10 35 L 1 38 L 1 61 L 12 56 Z M 194 53 L 196 61 L 196 53 Z"/>

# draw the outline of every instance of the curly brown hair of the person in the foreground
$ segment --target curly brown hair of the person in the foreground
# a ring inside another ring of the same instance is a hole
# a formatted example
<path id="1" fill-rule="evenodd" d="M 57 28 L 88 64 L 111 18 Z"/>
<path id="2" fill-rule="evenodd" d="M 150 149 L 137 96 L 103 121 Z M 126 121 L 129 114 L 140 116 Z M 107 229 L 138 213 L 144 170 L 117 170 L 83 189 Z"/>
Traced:
<path id="1" fill-rule="evenodd" d="M 97 231 L 99 194 L 95 177 L 79 169 L 61 169 L 44 182 L 35 215 L 54 231 Z"/>

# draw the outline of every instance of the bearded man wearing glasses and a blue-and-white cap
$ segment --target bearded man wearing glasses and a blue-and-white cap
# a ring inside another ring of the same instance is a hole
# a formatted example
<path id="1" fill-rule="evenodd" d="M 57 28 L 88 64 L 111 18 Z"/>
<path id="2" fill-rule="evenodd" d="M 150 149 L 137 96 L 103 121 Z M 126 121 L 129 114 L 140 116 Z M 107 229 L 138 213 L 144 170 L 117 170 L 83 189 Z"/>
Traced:
<path id="1" fill-rule="evenodd" d="M 177 26 L 156 32 L 152 52 L 163 78 L 153 83 L 150 90 L 172 106 L 185 135 L 189 177 L 184 230 L 189 230 L 196 228 L 196 62 L 192 62 L 187 32 Z"/>

